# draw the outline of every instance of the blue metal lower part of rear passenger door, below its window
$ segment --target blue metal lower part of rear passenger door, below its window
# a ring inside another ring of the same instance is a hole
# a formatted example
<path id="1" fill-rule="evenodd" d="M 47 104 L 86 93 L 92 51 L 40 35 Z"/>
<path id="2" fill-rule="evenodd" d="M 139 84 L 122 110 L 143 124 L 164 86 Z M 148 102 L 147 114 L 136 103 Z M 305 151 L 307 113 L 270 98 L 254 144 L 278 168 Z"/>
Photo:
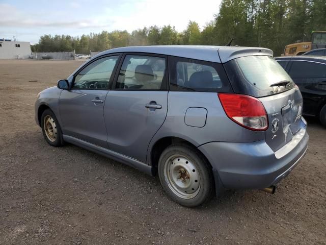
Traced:
<path id="1" fill-rule="evenodd" d="M 146 108 L 146 104 L 161 109 Z M 153 135 L 163 124 L 168 111 L 168 91 L 111 90 L 104 106 L 108 148 L 146 162 Z"/>

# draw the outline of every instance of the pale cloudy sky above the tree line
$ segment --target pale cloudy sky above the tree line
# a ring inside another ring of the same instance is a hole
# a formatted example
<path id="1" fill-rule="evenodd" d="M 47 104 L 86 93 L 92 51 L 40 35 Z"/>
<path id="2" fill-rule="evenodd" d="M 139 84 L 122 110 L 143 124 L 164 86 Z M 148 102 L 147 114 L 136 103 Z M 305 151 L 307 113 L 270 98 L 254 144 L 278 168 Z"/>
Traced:
<path id="1" fill-rule="evenodd" d="M 221 0 L 0 0 L 0 38 L 38 42 L 44 34 L 80 36 L 102 30 L 131 32 L 154 24 L 183 31 L 189 20 L 205 23 Z"/>

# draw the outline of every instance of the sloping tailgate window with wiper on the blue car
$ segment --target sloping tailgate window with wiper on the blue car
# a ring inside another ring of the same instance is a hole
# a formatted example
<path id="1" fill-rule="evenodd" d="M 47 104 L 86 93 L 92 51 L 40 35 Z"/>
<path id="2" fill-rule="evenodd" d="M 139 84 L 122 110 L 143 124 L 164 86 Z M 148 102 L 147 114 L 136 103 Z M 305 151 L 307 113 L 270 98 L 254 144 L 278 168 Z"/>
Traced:
<path id="1" fill-rule="evenodd" d="M 294 83 L 282 66 L 270 56 L 246 56 L 225 64 L 236 93 L 262 97 L 284 92 Z"/>

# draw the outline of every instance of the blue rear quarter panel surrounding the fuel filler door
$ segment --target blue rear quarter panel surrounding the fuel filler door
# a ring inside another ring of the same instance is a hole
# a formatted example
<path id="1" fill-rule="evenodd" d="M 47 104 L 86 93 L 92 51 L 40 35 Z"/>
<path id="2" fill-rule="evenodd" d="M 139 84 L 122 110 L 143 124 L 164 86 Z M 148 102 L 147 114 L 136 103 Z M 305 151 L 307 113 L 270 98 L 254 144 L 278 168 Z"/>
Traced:
<path id="1" fill-rule="evenodd" d="M 265 132 L 243 128 L 229 119 L 215 92 L 170 91 L 168 102 L 167 118 L 150 142 L 147 162 L 150 162 L 151 149 L 155 142 L 165 137 L 179 137 L 196 147 L 213 141 L 254 142 L 265 139 Z M 192 127 L 185 124 L 186 111 L 191 107 L 207 110 L 204 127 Z"/>

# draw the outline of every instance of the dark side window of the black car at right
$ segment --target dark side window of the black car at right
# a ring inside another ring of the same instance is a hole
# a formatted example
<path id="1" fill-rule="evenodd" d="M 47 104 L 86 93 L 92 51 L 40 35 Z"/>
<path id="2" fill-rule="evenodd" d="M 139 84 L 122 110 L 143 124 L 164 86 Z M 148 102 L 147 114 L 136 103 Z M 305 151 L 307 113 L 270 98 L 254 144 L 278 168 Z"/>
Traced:
<path id="1" fill-rule="evenodd" d="M 289 75 L 291 78 L 326 78 L 326 65 L 293 60 Z"/>

